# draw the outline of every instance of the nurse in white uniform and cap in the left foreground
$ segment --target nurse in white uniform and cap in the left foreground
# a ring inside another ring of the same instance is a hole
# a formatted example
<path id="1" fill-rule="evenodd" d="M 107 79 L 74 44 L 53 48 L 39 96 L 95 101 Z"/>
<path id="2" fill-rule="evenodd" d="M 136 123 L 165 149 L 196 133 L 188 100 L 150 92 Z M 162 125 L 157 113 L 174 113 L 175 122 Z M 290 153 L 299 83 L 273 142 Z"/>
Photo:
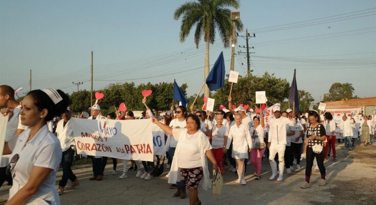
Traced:
<path id="1" fill-rule="evenodd" d="M 3 151 L 11 154 L 13 176 L 7 204 L 60 204 L 55 182 L 62 152 L 47 122 L 62 114 L 68 105 L 69 97 L 52 88 L 33 90 L 24 98 L 21 123 L 29 129 L 6 142 Z"/>

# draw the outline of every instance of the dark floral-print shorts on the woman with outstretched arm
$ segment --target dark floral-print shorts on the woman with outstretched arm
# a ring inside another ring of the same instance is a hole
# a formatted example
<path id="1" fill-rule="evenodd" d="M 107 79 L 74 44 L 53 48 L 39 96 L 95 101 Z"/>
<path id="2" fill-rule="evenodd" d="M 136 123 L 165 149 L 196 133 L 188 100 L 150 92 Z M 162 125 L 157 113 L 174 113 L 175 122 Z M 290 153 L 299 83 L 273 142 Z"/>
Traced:
<path id="1" fill-rule="evenodd" d="M 180 168 L 180 177 L 188 188 L 197 189 L 198 183 L 204 177 L 203 167 Z"/>

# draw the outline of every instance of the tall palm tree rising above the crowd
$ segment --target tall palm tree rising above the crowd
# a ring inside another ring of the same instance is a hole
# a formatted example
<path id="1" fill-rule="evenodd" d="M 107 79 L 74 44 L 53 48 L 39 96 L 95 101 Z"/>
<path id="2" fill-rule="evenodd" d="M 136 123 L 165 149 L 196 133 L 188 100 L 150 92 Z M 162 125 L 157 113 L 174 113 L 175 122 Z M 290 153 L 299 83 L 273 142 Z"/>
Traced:
<path id="1" fill-rule="evenodd" d="M 173 14 L 175 20 L 179 20 L 182 17 L 180 28 L 181 43 L 185 42 L 194 25 L 196 26 L 194 43 L 197 49 L 201 37 L 204 37 L 204 41 L 206 42 L 204 80 L 209 74 L 209 45 L 215 42 L 216 29 L 225 48 L 230 47 L 232 34 L 231 11 L 226 7 L 238 9 L 240 3 L 238 0 L 197 0 L 197 2 L 184 3 Z M 243 24 L 238 20 L 236 30 L 242 31 L 242 29 Z M 209 97 L 209 88 L 206 85 L 204 96 Z"/>

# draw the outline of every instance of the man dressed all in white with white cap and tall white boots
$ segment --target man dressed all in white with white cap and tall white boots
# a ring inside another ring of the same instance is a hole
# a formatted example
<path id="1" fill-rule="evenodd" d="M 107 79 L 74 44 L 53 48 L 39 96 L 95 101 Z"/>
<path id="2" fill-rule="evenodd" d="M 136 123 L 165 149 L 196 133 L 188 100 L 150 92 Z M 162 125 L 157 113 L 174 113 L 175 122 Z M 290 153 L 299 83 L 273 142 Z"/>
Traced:
<path id="1" fill-rule="evenodd" d="M 277 176 L 277 163 L 274 161 L 276 154 L 278 153 L 278 168 L 279 177 L 277 181 L 283 180 L 283 170 L 284 170 L 284 151 L 286 149 L 287 138 L 286 138 L 286 126 L 294 126 L 293 121 L 288 118 L 281 117 L 281 108 L 279 106 L 274 106 L 272 109 L 274 113 L 274 118 L 269 121 L 269 137 L 268 137 L 268 148 L 269 148 L 269 162 L 272 168 L 272 176 L 270 180 L 274 180 Z"/>

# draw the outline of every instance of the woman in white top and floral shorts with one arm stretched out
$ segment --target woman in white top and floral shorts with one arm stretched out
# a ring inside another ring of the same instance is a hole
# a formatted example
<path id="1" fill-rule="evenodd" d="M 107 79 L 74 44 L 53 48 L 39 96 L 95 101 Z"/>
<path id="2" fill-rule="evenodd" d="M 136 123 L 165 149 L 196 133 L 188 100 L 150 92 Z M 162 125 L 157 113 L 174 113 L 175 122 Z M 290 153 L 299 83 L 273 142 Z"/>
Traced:
<path id="1" fill-rule="evenodd" d="M 210 188 L 211 184 L 208 162 L 205 156 L 213 163 L 213 170 L 218 170 L 218 166 L 208 138 L 200 131 L 200 119 L 194 114 L 189 114 L 187 128 L 183 129 L 163 125 L 155 118 L 152 121 L 178 141 L 175 156 L 172 159 L 168 183 L 185 181 L 189 192 L 189 204 L 201 204 L 198 199 L 197 187 L 200 185 L 206 190 Z"/>

